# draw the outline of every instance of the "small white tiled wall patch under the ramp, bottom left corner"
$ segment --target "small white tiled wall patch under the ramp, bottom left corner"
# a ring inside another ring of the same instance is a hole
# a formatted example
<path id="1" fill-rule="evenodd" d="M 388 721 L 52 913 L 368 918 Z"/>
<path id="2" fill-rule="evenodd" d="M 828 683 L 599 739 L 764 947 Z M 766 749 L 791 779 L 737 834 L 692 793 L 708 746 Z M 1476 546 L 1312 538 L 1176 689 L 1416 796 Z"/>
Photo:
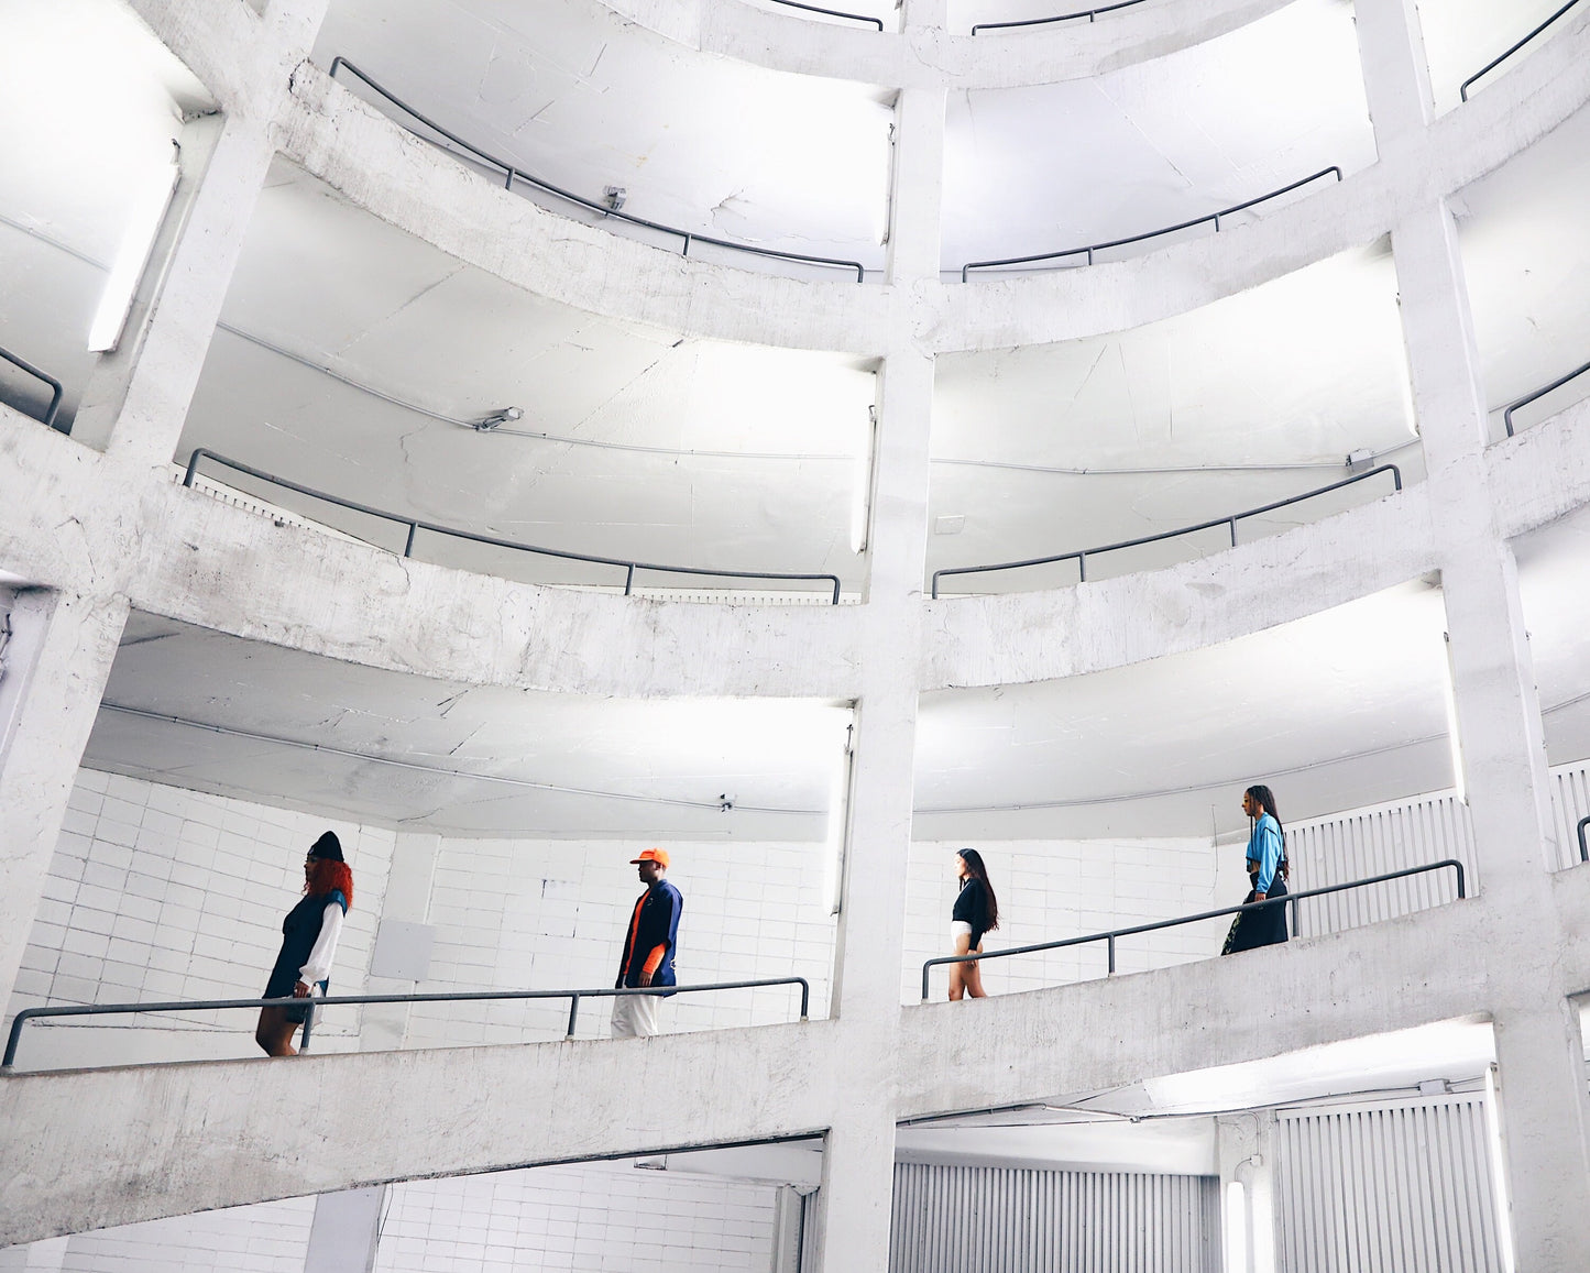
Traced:
<path id="1" fill-rule="evenodd" d="M 315 1198 L 78 1233 L 62 1273 L 302 1273 Z"/>

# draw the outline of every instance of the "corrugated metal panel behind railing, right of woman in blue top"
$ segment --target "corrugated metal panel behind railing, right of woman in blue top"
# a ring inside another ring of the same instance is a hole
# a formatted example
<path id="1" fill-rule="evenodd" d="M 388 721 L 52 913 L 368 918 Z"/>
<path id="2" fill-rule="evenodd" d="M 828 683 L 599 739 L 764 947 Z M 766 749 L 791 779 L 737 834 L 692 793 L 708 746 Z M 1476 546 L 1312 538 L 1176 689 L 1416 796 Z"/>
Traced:
<path id="1" fill-rule="evenodd" d="M 1477 884 L 1469 807 L 1450 793 L 1294 823 L 1286 828 L 1286 857 L 1293 868 L 1288 880 L 1293 892 L 1383 876 L 1442 858 L 1456 858 L 1464 865 L 1471 892 Z M 1452 871 L 1350 888 L 1297 903 L 1297 933 L 1305 938 L 1339 933 L 1425 911 L 1456 895 Z"/>

